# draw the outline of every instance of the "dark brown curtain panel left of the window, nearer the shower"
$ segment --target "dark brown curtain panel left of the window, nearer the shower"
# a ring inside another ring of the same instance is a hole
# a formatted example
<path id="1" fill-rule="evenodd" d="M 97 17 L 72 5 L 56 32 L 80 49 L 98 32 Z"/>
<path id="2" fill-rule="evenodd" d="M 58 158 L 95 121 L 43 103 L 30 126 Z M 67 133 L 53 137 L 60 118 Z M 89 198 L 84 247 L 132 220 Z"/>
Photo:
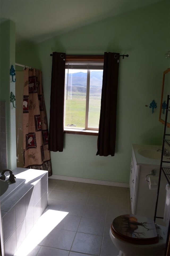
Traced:
<path id="1" fill-rule="evenodd" d="M 63 151 L 65 53 L 53 52 L 51 74 L 49 150 Z"/>

